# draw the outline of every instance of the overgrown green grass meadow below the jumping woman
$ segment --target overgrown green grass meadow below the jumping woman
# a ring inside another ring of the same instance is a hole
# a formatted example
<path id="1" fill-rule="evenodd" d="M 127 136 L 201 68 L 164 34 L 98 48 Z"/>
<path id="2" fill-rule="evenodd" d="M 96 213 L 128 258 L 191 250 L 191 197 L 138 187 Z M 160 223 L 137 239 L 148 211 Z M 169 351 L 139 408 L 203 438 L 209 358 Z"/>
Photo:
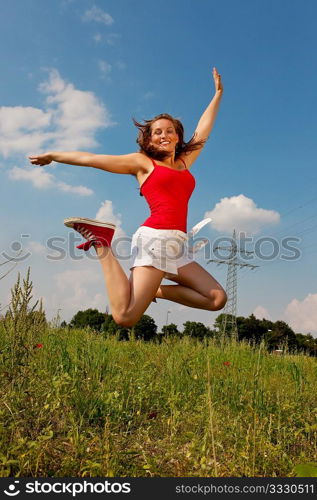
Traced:
<path id="1" fill-rule="evenodd" d="M 44 327 L 17 357 L 9 334 L 1 477 L 281 477 L 316 461 L 316 358 Z"/>

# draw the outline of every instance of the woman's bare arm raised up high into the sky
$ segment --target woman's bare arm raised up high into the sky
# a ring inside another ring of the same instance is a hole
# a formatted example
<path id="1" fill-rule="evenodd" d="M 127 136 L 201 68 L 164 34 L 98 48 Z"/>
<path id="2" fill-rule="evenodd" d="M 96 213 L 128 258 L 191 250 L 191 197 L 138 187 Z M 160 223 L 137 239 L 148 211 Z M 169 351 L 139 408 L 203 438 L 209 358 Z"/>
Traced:
<path id="1" fill-rule="evenodd" d="M 220 101 L 223 94 L 223 85 L 221 82 L 221 76 L 216 68 L 213 68 L 213 78 L 215 83 L 215 95 L 201 115 L 200 120 L 197 124 L 196 130 L 194 132 L 196 141 L 207 141 L 218 113 Z M 196 151 L 192 151 L 191 153 L 186 155 L 186 165 L 190 166 L 196 160 L 197 156 L 201 153 L 201 150 L 202 148 L 197 149 Z"/>

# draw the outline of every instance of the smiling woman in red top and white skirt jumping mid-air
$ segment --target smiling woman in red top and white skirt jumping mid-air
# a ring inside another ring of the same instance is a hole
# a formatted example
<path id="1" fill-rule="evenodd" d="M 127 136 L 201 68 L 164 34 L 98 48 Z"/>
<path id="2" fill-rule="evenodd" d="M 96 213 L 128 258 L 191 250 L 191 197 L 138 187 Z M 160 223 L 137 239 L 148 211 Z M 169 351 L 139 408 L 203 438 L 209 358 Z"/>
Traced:
<path id="1" fill-rule="evenodd" d="M 94 246 L 104 274 L 112 316 L 118 325 L 133 326 L 157 298 L 209 311 L 222 309 L 226 303 L 221 285 L 193 260 L 192 254 L 185 252 L 187 206 L 195 187 L 190 167 L 209 137 L 223 93 L 216 68 L 213 79 L 215 95 L 187 143 L 181 122 L 161 114 L 143 124 L 134 122 L 139 130 L 138 153 L 113 156 L 54 151 L 29 157 L 33 165 L 44 166 L 57 161 L 136 177 L 151 215 L 133 235 L 134 262 L 129 279 L 111 249 L 113 224 L 81 217 L 64 221 L 87 240 L 77 248 L 87 251 Z M 196 230 L 209 220 L 198 224 Z M 163 278 L 177 285 L 161 285 Z"/>

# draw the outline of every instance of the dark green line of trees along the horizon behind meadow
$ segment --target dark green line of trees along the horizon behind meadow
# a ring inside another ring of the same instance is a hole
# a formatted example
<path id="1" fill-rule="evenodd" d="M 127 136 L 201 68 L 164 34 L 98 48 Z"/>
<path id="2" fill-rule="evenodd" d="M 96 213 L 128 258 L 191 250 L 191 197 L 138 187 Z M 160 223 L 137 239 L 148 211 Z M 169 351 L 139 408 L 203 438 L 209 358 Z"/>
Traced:
<path id="1" fill-rule="evenodd" d="M 198 340 L 206 338 L 219 338 L 224 314 L 217 316 L 213 328 L 197 321 L 186 321 L 183 330 L 180 331 L 174 323 L 164 325 L 158 332 L 154 319 L 144 314 L 139 322 L 133 327 L 123 328 L 118 326 L 111 314 L 101 313 L 97 309 L 86 309 L 78 311 L 69 324 L 62 322 L 61 327 L 86 328 L 99 332 L 103 335 L 116 335 L 119 340 L 129 340 L 131 335 L 138 340 L 157 340 L 164 337 L 181 338 L 189 336 Z M 287 348 L 290 352 L 304 351 L 311 356 L 317 356 L 317 338 L 311 334 L 295 333 L 284 321 L 269 321 L 258 319 L 253 314 L 245 318 L 237 317 L 238 340 L 248 340 L 252 343 L 260 343 L 265 340 L 270 351 Z M 227 337 L 230 332 L 225 332 Z"/>

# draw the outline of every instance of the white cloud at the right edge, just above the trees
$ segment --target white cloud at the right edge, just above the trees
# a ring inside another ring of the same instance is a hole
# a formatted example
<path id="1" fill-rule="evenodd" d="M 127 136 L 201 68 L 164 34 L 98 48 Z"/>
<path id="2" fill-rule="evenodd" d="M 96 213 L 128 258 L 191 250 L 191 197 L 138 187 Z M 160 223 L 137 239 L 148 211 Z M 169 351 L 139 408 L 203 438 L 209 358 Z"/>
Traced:
<path id="1" fill-rule="evenodd" d="M 317 332 L 317 293 L 309 293 L 302 301 L 293 299 L 286 307 L 285 317 L 296 332 Z"/>

